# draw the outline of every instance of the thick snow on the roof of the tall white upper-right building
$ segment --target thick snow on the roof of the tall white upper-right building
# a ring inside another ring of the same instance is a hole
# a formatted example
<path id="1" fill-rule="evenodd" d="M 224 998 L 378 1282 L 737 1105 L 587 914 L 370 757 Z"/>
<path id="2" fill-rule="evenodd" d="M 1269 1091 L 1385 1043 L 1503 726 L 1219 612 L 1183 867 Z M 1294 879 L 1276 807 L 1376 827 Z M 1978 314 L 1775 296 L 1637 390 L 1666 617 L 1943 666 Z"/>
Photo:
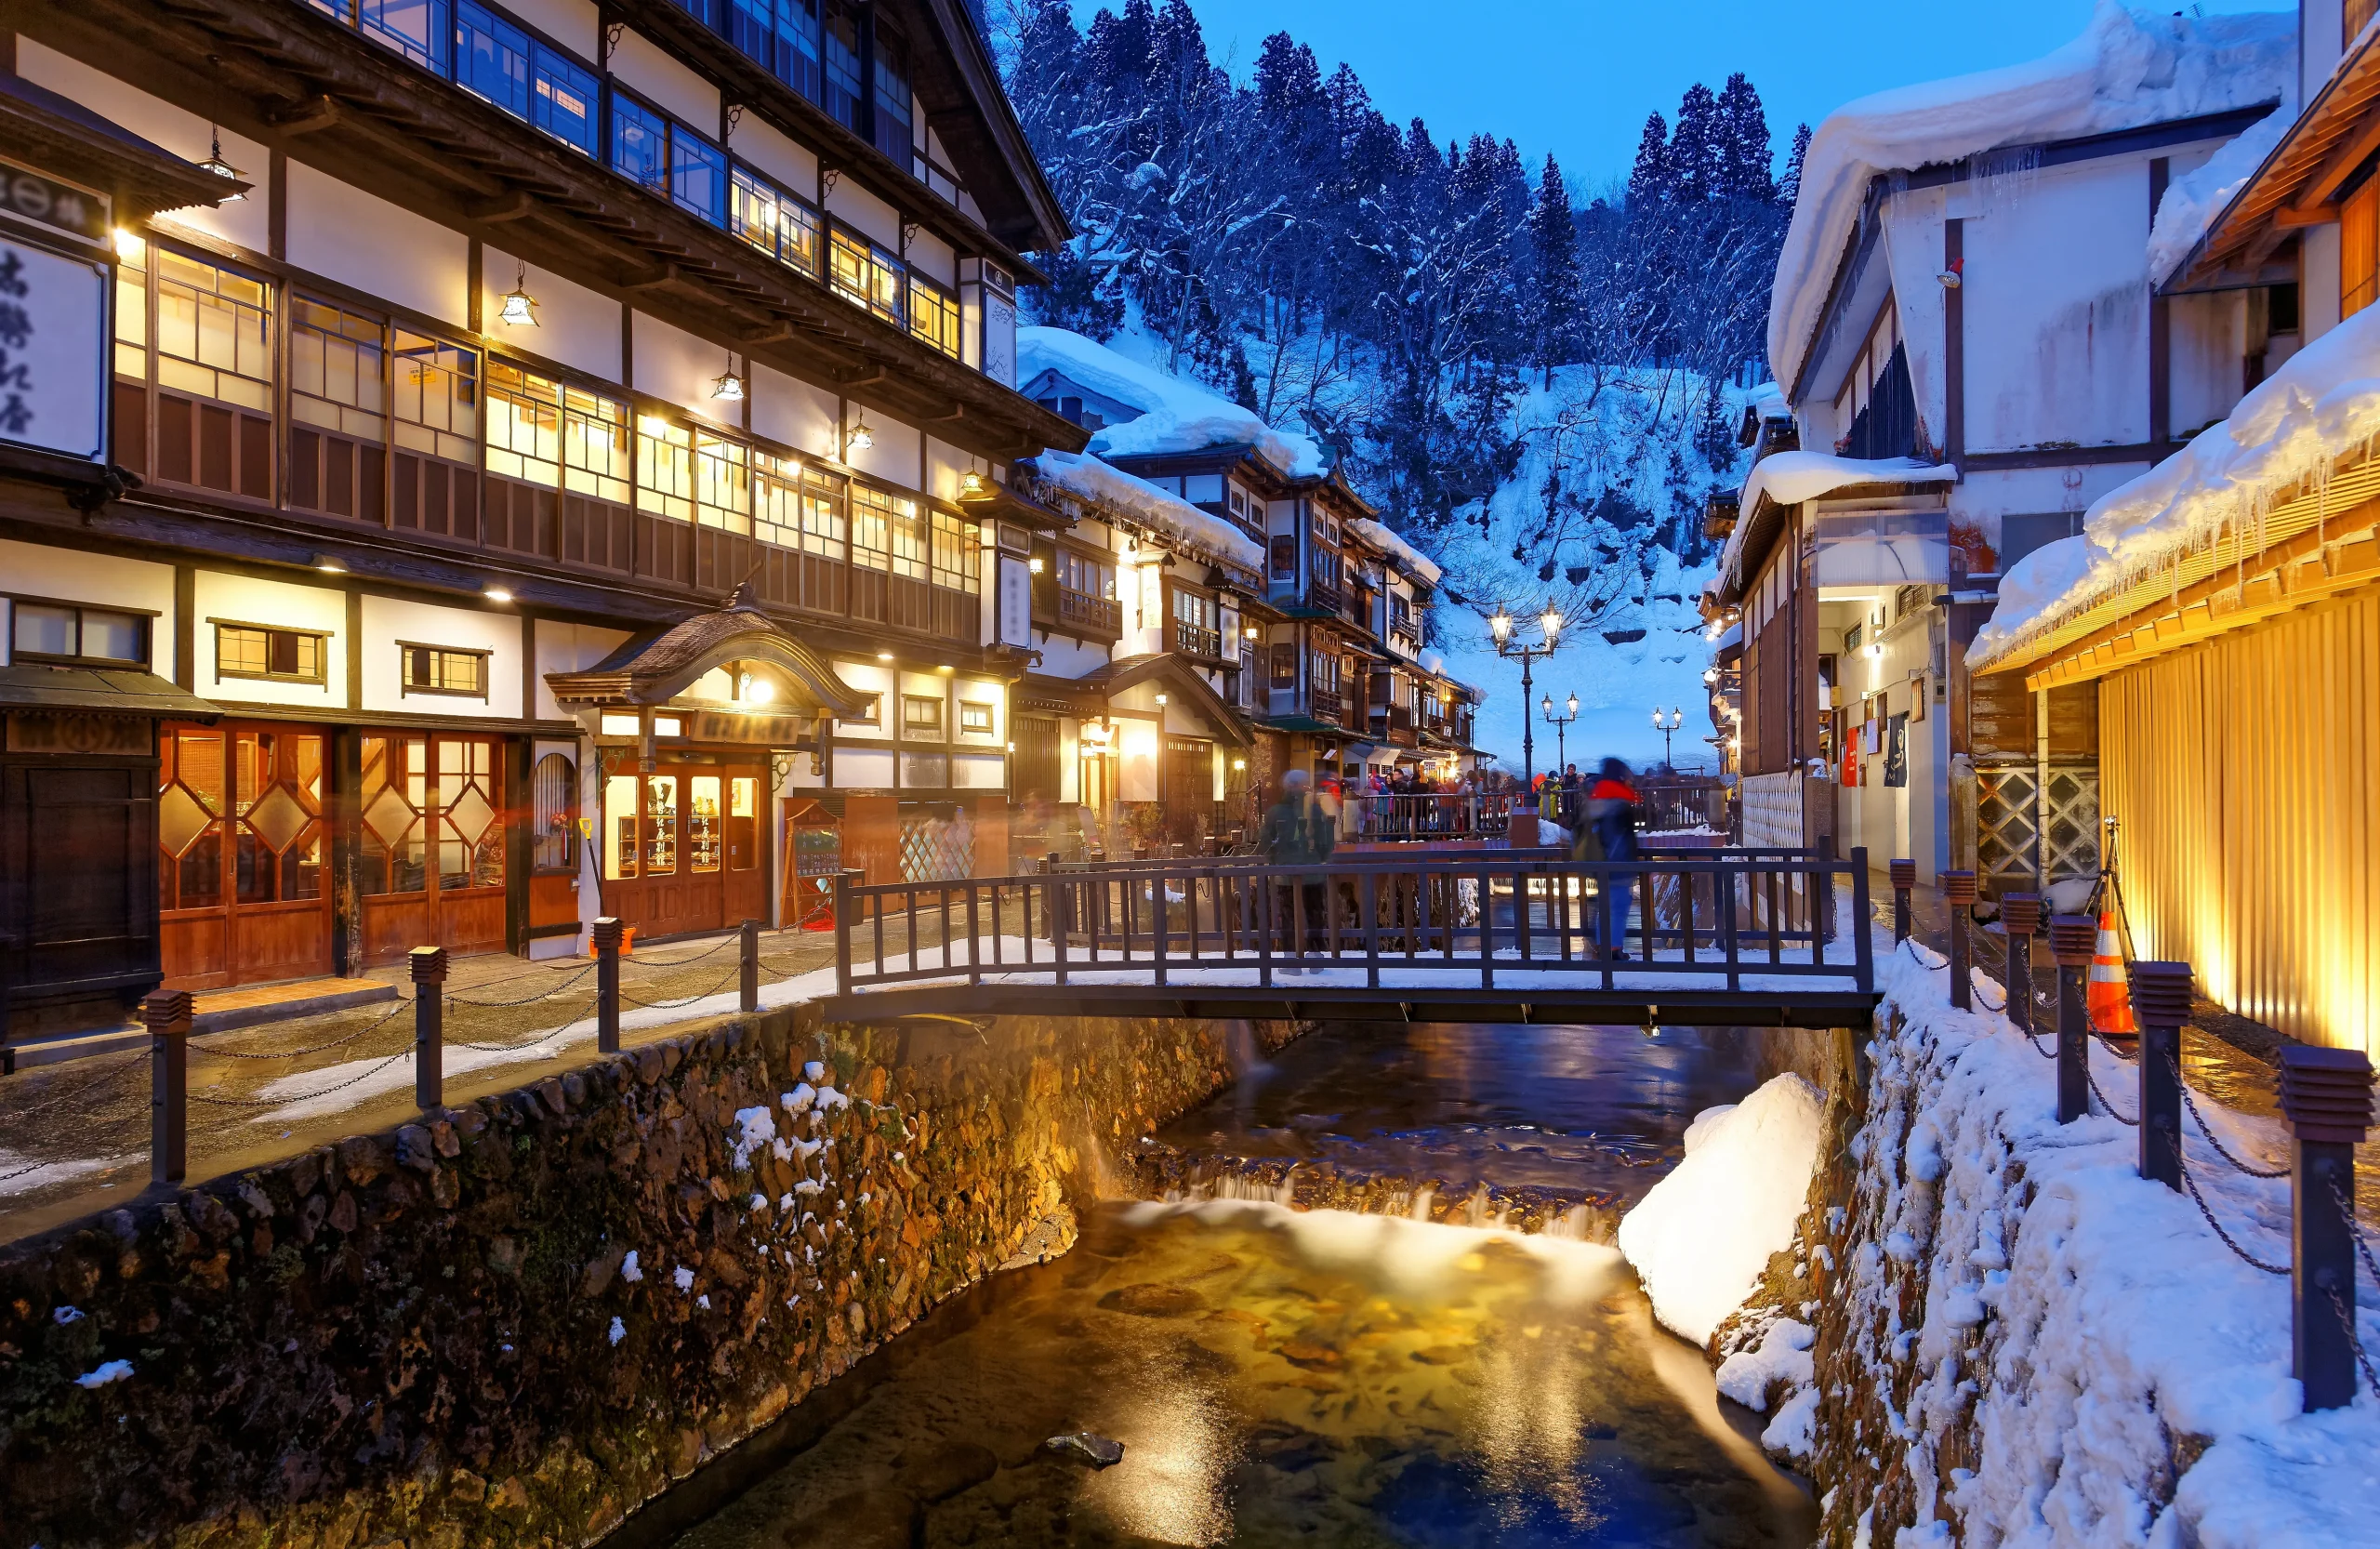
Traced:
<path id="1" fill-rule="evenodd" d="M 1809 138 L 1802 197 L 1778 255 L 1768 302 L 1778 381 L 1802 374 L 1875 174 L 2275 102 L 2290 95 L 2294 69 L 2294 12 L 2166 17 L 2099 0 L 2090 29 L 2042 59 L 1837 107 Z"/>

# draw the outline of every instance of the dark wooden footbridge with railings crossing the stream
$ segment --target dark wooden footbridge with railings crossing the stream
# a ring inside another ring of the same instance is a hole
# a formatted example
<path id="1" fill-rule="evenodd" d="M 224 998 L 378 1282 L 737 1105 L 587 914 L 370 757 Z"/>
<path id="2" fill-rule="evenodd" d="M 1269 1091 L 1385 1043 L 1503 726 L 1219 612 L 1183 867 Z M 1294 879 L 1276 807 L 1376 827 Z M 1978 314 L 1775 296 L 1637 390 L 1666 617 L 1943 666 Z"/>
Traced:
<path id="1" fill-rule="evenodd" d="M 835 878 L 838 1021 L 1864 1028 L 1878 999 L 1866 849 L 1647 849 L 1626 864 L 1552 849 L 1319 866 L 1183 857 L 859 878 Z"/>

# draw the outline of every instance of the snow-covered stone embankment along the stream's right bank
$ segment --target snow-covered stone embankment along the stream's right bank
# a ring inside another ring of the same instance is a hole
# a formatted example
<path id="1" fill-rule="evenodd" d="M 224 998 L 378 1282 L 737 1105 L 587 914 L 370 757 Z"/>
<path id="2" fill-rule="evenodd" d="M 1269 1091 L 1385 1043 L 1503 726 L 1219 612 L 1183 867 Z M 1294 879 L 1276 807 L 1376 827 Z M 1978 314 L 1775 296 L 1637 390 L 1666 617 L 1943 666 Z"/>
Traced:
<path id="1" fill-rule="evenodd" d="M 1840 1261 L 1823 1316 L 1844 1344 L 1785 1404 L 1859 1371 L 1866 1423 L 1816 1437 L 1818 1454 L 1904 1480 L 1925 1528 L 1899 1542 L 2373 1542 L 2380 1404 L 2299 1413 L 2287 1280 L 2232 1256 L 2190 1194 L 2142 1180 L 2135 1130 L 2056 1123 L 2049 1064 L 2006 1018 L 1954 1011 L 1942 971 L 1880 949 L 1878 987 L 1859 1187 L 1835 1252 L 1814 1249 Z M 2130 1111 L 2132 1068 L 2094 1047 L 2092 1071 Z M 2285 1152 L 2278 1125 L 2199 1109 L 2232 1154 Z M 2190 1118 L 2185 1154 L 2225 1230 L 2285 1263 L 2287 1180 L 2232 1171 Z M 2370 1309 L 2361 1340 L 2380 1347 Z"/>

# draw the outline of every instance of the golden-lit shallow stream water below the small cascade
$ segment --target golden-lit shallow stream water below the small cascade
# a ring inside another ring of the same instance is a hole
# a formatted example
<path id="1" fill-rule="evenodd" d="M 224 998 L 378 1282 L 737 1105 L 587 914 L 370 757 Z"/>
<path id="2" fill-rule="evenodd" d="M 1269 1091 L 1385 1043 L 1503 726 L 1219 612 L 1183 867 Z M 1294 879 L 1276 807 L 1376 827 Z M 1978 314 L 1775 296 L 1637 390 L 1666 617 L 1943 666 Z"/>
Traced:
<path id="1" fill-rule="evenodd" d="M 1073 1254 L 888 1354 L 862 1406 L 683 1542 L 1752 1547 L 1816 1523 L 1585 1242 L 1107 1206 Z M 1061 1430 L 1123 1463 L 1040 1451 Z"/>

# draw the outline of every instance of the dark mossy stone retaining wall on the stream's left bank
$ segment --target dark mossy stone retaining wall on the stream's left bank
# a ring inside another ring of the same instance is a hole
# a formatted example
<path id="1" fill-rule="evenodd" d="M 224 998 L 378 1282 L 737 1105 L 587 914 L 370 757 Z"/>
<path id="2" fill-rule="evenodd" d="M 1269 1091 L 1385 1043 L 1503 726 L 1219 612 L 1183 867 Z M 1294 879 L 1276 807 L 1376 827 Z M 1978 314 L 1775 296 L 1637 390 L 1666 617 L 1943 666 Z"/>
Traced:
<path id="1" fill-rule="evenodd" d="M 595 1542 L 1290 1033 L 790 1009 L 10 1244 L 0 1549 Z"/>

